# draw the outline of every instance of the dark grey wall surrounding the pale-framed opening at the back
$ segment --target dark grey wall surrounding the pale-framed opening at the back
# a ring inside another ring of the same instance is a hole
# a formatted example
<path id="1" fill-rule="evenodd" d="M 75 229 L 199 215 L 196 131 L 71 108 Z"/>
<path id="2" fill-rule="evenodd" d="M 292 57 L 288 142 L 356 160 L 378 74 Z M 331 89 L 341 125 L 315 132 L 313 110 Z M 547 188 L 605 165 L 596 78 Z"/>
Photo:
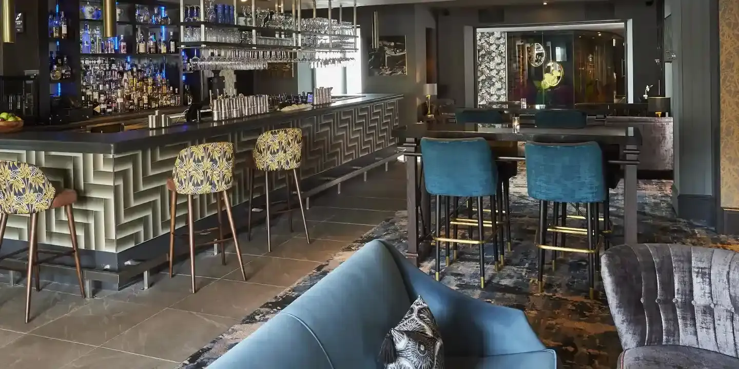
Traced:
<path id="1" fill-rule="evenodd" d="M 438 4 L 443 3 L 434 6 Z M 499 16 L 501 21 L 497 23 L 481 23 L 480 8 L 449 7 L 446 10 L 447 15 L 440 15 L 437 26 L 439 52 L 444 55 L 439 60 L 440 97 L 452 98 L 458 106 L 465 104 L 465 93 L 473 90 L 474 83 L 465 78 L 465 65 L 470 65 L 465 58 L 472 58 L 465 49 L 466 27 L 469 33 L 471 27 L 633 19 L 635 94 L 641 95 L 647 84 L 657 86 L 659 71 L 654 62 L 657 57 L 657 10 L 655 5 L 647 7 L 643 0 L 496 7 L 491 13 Z"/>

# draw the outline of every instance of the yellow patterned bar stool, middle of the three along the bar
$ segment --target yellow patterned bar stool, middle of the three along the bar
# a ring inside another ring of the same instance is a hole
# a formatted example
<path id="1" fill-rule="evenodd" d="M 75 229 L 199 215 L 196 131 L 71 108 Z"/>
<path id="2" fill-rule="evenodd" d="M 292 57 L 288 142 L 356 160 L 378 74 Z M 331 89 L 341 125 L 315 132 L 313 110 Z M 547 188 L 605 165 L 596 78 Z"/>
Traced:
<path id="1" fill-rule="evenodd" d="M 187 195 L 188 208 L 188 244 L 190 246 L 190 277 L 192 292 L 195 293 L 195 247 L 219 244 L 221 263 L 225 265 L 225 241 L 234 240 L 236 258 L 239 259 L 242 277 L 246 280 L 246 272 L 241 256 L 241 248 L 236 237 L 234 216 L 231 214 L 231 200 L 228 199 L 228 190 L 234 183 L 234 145 L 231 142 L 211 142 L 194 145 L 180 151 L 174 162 L 172 177 L 167 181 L 167 188 L 171 192 L 169 201 L 169 277 L 172 277 L 174 261 L 174 226 L 177 220 L 177 195 Z M 216 194 L 218 211 L 218 227 L 208 230 L 194 230 L 193 196 Z M 231 237 L 224 238 L 222 226 L 222 208 L 225 207 L 228 224 L 231 226 Z M 195 233 L 209 233 L 218 230 L 218 239 L 195 244 Z"/>

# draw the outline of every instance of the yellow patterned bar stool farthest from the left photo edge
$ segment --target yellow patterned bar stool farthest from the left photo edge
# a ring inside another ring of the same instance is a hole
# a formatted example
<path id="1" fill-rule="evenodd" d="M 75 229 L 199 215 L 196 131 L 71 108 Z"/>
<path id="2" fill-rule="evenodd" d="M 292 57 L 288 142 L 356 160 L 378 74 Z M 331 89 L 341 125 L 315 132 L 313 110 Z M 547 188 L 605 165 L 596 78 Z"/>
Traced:
<path id="1" fill-rule="evenodd" d="M 300 206 L 300 213 L 303 217 L 303 227 L 305 228 L 305 238 L 310 244 L 310 235 L 308 235 L 308 226 L 305 221 L 305 210 L 303 208 L 303 196 L 300 190 L 300 179 L 298 169 L 302 161 L 303 151 L 303 131 L 300 128 L 282 128 L 273 131 L 266 131 L 259 135 L 256 139 L 256 145 L 253 150 L 253 160 L 247 160 L 249 173 L 249 219 L 248 219 L 248 239 L 251 239 L 251 213 L 254 200 L 254 176 L 255 170 L 263 170 L 265 172 L 265 207 L 267 208 L 267 248 L 272 251 L 272 241 L 270 234 L 270 216 L 276 213 L 270 212 L 270 172 L 285 171 L 285 188 L 287 189 L 287 209 L 278 213 L 287 213 L 287 221 L 290 226 L 290 232 L 293 232 L 293 207 L 290 198 L 293 192 L 290 190 L 290 172 L 293 173 L 295 181 L 296 194 Z"/>

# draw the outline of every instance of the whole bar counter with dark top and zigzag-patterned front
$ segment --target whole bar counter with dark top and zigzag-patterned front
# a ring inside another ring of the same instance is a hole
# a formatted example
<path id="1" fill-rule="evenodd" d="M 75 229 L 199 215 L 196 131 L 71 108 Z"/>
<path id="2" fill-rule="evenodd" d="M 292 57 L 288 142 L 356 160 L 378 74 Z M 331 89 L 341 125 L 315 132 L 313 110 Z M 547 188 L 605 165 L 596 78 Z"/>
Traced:
<path id="1" fill-rule="evenodd" d="M 0 135 L 0 159 L 37 165 L 55 186 L 76 190 L 80 199 L 74 205 L 74 215 L 79 246 L 84 250 L 84 266 L 96 269 L 108 266 L 116 270 L 123 268 L 127 260 L 151 257 L 151 252 L 135 252 L 134 249 L 141 249 L 135 246 L 168 233 L 166 180 L 183 148 L 204 142 L 233 142 L 231 203 L 242 204 L 248 201 L 243 163 L 251 156 L 256 138 L 262 132 L 302 128 L 304 150 L 300 174 L 302 179 L 307 179 L 324 170 L 350 165 L 347 163 L 377 151 L 394 149 L 391 132 L 398 126 L 398 102 L 402 98 L 401 94 L 364 94 L 308 109 L 154 130 L 21 131 Z M 270 190 L 284 185 L 282 173 L 272 176 Z M 255 196 L 261 196 L 263 177 L 258 177 L 255 184 Z M 185 200 L 185 196 L 179 196 L 177 227 L 185 225 Z M 213 196 L 196 196 L 196 220 L 215 212 Z M 10 215 L 6 241 L 27 241 L 27 221 L 27 216 Z M 64 211 L 40 213 L 38 224 L 40 244 L 71 246 Z M 6 244 L 11 245 L 10 249 L 15 248 L 13 241 Z M 10 250 L 4 247 L 4 251 Z"/>

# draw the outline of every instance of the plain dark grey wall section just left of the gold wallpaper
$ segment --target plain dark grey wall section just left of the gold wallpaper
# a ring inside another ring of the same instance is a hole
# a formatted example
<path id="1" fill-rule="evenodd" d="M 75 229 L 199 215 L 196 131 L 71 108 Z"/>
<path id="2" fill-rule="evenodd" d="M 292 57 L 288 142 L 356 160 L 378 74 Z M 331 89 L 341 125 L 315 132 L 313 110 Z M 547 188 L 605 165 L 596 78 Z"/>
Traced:
<path id="1" fill-rule="evenodd" d="M 673 206 L 681 218 L 712 224 L 710 208 L 718 173 L 712 163 L 712 79 L 718 58 L 710 51 L 711 12 L 702 2 L 670 0 L 672 13 L 672 117 L 675 121 L 675 184 Z M 714 96 L 715 98 L 715 96 Z"/>

